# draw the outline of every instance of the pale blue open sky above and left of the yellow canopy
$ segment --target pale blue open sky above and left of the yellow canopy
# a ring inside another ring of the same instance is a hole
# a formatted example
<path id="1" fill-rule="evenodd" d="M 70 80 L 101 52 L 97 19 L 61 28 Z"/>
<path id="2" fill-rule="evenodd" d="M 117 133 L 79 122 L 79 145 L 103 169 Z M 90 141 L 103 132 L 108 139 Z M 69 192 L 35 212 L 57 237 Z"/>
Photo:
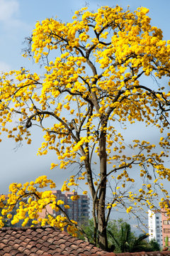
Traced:
<path id="1" fill-rule="evenodd" d="M 116 4 L 125 7 L 130 6 L 134 11 L 139 6 L 150 9 L 149 16 L 152 25 L 162 28 L 164 39 L 170 39 L 170 1 L 162 0 L 90 0 L 89 9 L 96 10 L 99 6 Z M 23 41 L 30 36 L 36 21 L 57 16 L 62 21 L 71 21 L 74 11 L 85 5 L 85 1 L 72 0 L 0 0 L 0 71 L 18 69 L 20 67 L 37 69 L 35 64 L 22 57 Z M 148 137 L 152 137 L 148 134 Z M 3 137 L 0 144 L 0 193 L 8 192 L 11 182 L 25 182 L 34 180 L 37 176 L 46 174 L 54 178 L 57 188 L 60 189 L 62 181 L 67 177 L 67 172 L 60 170 L 50 171 L 50 163 L 55 161 L 55 154 L 36 156 L 37 149 L 42 142 L 42 134 L 34 131 L 33 144 L 23 144 L 16 149 L 15 142 Z M 154 140 L 154 137 L 152 137 Z M 69 171 L 72 175 L 72 169 Z"/>

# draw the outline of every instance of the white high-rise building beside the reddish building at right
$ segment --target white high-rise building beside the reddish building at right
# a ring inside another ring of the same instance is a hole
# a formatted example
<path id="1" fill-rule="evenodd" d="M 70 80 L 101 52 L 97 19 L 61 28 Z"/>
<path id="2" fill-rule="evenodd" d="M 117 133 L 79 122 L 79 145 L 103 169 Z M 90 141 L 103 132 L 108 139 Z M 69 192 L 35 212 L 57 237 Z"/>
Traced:
<path id="1" fill-rule="evenodd" d="M 160 247 L 163 246 L 162 238 L 162 213 L 156 210 L 148 210 L 149 241 L 157 240 Z"/>

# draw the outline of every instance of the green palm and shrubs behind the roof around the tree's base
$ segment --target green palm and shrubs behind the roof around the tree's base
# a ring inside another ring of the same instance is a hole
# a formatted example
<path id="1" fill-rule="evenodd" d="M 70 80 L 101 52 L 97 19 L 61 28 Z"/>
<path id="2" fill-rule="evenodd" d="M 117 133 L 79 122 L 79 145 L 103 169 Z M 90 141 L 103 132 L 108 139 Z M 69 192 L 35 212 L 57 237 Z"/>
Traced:
<path id="1" fill-rule="evenodd" d="M 83 225 L 89 242 L 94 243 L 94 221 L 89 220 L 88 225 Z M 147 242 L 148 235 L 141 234 L 135 237 L 130 224 L 123 219 L 110 220 L 107 227 L 108 248 L 114 252 L 153 252 L 159 251 L 160 247 L 156 240 Z M 79 238 L 84 240 L 84 235 L 79 233 Z"/>

